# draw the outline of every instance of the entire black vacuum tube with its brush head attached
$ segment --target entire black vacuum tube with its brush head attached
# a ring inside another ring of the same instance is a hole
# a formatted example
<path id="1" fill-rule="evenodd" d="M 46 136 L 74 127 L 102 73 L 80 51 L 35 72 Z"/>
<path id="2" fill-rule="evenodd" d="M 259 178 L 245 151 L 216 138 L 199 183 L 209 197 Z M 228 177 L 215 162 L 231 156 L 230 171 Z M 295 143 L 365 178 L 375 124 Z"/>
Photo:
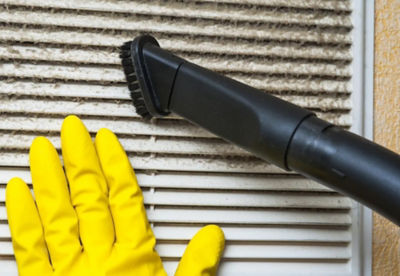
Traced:
<path id="1" fill-rule="evenodd" d="M 120 56 L 142 117 L 176 113 L 400 225 L 399 155 L 309 110 L 179 58 L 151 36 L 125 43 Z"/>

